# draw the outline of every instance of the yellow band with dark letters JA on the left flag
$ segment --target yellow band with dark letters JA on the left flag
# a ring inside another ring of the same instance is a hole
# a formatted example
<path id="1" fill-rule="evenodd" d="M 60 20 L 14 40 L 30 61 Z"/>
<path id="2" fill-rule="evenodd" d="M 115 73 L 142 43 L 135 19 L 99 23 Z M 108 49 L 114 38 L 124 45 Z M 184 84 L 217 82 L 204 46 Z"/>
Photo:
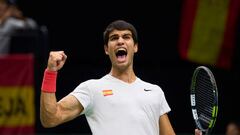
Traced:
<path id="1" fill-rule="evenodd" d="M 33 86 L 0 87 L 0 126 L 28 126 L 35 123 Z"/>

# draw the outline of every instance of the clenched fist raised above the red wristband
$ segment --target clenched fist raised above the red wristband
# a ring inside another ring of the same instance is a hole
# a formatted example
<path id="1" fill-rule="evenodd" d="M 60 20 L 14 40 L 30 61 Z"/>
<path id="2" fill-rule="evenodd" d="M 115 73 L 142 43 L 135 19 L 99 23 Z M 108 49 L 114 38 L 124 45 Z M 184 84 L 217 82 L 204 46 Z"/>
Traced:
<path id="1" fill-rule="evenodd" d="M 64 51 L 51 51 L 49 53 L 47 70 L 58 71 L 60 70 L 64 63 L 66 62 L 67 55 Z"/>

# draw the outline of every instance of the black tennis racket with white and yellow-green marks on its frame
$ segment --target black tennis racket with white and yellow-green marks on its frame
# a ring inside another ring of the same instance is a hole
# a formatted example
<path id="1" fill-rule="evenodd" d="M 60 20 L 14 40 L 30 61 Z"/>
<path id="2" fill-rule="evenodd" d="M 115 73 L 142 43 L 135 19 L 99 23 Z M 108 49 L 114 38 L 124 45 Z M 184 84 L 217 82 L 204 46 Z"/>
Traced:
<path id="1" fill-rule="evenodd" d="M 194 70 L 191 81 L 191 108 L 196 127 L 211 133 L 218 114 L 218 90 L 213 73 L 205 66 Z"/>

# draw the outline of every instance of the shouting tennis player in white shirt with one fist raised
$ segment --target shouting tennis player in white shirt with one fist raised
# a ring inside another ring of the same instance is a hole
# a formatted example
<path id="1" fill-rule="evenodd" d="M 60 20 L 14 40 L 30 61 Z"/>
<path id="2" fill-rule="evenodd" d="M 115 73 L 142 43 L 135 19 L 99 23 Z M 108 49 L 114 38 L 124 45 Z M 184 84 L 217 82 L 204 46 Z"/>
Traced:
<path id="1" fill-rule="evenodd" d="M 55 127 L 85 114 L 93 135 L 175 135 L 162 89 L 134 73 L 133 57 L 138 51 L 135 27 L 123 20 L 109 24 L 104 49 L 112 63 L 110 72 L 82 82 L 58 102 L 57 71 L 67 56 L 63 51 L 50 52 L 42 82 L 42 125 Z"/>

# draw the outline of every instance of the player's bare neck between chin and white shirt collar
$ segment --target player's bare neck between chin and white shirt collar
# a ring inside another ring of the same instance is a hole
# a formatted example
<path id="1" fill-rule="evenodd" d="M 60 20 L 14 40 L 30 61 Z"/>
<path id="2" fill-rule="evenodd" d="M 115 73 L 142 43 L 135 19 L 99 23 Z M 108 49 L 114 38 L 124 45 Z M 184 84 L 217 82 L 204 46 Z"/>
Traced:
<path id="1" fill-rule="evenodd" d="M 129 69 L 126 69 L 126 70 L 119 70 L 119 69 L 112 67 L 112 69 L 110 71 L 110 75 L 112 75 L 113 77 L 116 77 L 126 83 L 132 83 L 136 80 L 136 75 L 135 75 L 132 67 Z"/>

